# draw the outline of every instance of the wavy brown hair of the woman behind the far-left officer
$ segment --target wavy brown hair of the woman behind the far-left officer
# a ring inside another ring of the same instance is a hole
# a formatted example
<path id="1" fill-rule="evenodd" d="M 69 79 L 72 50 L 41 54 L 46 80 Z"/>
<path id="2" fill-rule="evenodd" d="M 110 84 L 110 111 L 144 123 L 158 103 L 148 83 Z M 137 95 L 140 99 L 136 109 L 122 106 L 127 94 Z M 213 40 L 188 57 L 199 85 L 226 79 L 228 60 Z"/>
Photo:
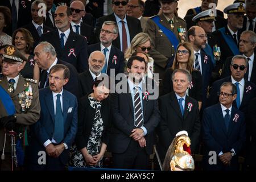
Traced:
<path id="1" fill-rule="evenodd" d="M 30 33 L 30 31 L 28 31 L 26 28 L 18 28 L 13 32 L 13 40 L 12 40 L 12 44 L 15 46 L 15 36 L 18 32 L 21 32 L 23 35 L 24 40 L 27 43 L 26 46 L 26 53 L 31 53 L 33 51 L 33 46 L 34 46 L 34 39 Z"/>

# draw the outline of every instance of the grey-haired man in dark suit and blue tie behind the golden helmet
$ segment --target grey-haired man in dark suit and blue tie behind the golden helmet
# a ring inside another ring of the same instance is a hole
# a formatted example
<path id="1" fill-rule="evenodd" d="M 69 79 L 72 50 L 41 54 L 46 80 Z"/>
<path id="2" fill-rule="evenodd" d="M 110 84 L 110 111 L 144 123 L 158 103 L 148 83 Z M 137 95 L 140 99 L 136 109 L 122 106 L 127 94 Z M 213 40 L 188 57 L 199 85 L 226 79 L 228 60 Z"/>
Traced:
<path id="1" fill-rule="evenodd" d="M 162 162 L 178 131 L 188 132 L 192 153 L 195 152 L 197 144 L 199 144 L 199 105 L 196 100 L 186 95 L 191 79 L 188 71 L 175 69 L 172 73 L 174 92 L 159 98 L 161 121 L 156 129 L 159 137 L 156 148 Z"/>

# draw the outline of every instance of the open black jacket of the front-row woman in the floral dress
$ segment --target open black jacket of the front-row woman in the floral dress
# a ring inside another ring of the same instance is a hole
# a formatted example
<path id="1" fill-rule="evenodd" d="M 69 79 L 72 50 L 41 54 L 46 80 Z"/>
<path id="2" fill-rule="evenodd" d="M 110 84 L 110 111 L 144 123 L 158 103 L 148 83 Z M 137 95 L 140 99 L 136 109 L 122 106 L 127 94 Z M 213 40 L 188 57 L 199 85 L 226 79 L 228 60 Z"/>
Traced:
<path id="1" fill-rule="evenodd" d="M 75 143 L 79 150 L 87 146 L 90 133 L 92 132 L 95 113 L 96 109 L 93 109 L 93 107 L 90 106 L 88 94 L 86 94 L 80 99 L 78 106 L 78 129 Z M 108 98 L 102 101 L 101 117 L 104 126 L 101 142 L 108 145 L 111 122 L 110 104 Z"/>

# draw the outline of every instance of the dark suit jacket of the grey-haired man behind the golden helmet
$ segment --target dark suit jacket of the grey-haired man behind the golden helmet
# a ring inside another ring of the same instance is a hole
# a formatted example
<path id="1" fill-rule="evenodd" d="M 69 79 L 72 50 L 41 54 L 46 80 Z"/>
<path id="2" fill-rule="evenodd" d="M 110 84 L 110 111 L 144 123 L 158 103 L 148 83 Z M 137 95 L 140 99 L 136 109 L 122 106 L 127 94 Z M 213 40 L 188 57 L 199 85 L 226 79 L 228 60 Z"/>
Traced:
<path id="1" fill-rule="evenodd" d="M 188 111 L 189 102 L 193 105 L 191 111 Z M 191 139 L 191 151 L 194 152 L 199 144 L 201 130 L 198 102 L 186 96 L 184 116 L 182 116 L 175 92 L 171 92 L 159 98 L 159 110 L 161 121 L 156 128 L 156 134 L 159 137 L 156 148 L 162 162 L 176 133 L 181 130 L 188 132 Z"/>

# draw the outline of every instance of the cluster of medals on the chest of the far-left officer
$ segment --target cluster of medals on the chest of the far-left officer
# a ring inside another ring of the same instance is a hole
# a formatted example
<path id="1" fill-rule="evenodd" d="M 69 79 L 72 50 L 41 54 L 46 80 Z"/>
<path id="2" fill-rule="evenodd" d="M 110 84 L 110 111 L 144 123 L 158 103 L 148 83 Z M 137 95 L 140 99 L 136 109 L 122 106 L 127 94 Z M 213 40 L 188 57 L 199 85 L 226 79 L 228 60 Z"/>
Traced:
<path id="1" fill-rule="evenodd" d="M 31 102 L 33 99 L 32 87 L 31 85 L 28 86 L 28 91 L 23 91 L 19 93 L 19 104 L 22 107 L 21 111 L 26 111 L 31 106 Z"/>

